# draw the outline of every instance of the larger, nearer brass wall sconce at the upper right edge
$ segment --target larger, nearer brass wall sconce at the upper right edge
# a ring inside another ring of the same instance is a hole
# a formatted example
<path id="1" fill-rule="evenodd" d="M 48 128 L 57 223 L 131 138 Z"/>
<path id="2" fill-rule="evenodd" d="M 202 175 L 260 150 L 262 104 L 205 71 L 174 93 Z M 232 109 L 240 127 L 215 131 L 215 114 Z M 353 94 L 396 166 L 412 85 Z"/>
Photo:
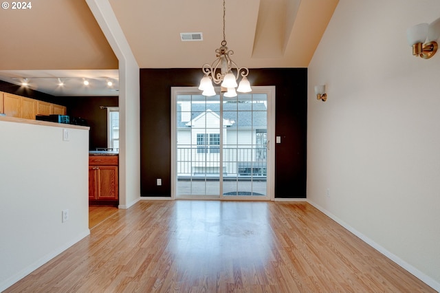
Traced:
<path id="1" fill-rule="evenodd" d="M 420 23 L 408 28 L 406 38 L 412 46 L 412 55 L 429 59 L 437 52 L 437 40 L 440 36 L 440 19 L 432 23 Z M 427 42 L 427 43 L 425 43 Z"/>

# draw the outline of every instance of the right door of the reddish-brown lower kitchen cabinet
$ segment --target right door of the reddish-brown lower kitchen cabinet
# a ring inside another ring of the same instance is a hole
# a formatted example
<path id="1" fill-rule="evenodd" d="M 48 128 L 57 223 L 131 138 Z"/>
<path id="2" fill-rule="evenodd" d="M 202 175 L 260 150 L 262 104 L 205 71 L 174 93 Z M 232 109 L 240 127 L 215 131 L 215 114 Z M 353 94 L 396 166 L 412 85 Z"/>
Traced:
<path id="1" fill-rule="evenodd" d="M 118 199 L 118 166 L 98 166 L 96 199 Z"/>

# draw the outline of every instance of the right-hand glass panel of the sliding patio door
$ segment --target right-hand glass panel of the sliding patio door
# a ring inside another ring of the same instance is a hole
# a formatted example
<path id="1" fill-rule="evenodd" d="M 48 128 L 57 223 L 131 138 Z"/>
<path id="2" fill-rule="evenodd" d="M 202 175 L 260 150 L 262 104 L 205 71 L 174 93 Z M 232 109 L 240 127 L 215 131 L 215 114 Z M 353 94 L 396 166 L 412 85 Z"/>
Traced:
<path id="1" fill-rule="evenodd" d="M 224 197 L 267 195 L 267 94 L 223 99 Z"/>

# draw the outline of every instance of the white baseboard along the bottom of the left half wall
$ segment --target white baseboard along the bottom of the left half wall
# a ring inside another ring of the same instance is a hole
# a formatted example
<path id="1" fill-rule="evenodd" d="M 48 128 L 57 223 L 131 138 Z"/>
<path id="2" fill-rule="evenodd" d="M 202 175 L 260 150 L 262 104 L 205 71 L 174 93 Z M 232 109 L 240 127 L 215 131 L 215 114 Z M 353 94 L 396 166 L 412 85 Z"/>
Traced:
<path id="1" fill-rule="evenodd" d="M 71 241 L 65 243 L 65 245 L 50 252 L 49 254 L 46 254 L 44 257 L 42 257 L 38 261 L 32 263 L 31 265 L 28 265 L 28 267 L 24 268 L 23 270 L 21 270 L 17 274 L 14 274 L 14 276 L 11 276 L 10 278 L 5 279 L 4 281 L 2 281 L 0 283 L 0 292 L 3 292 L 3 290 L 6 290 L 8 287 L 14 285 L 14 283 L 17 283 L 18 281 L 23 279 L 25 276 L 28 276 L 28 274 L 30 274 L 31 272 L 34 272 L 34 270 L 36 270 L 37 268 L 40 268 L 41 265 L 44 265 L 45 263 L 47 263 L 48 261 L 50 261 L 51 259 L 56 257 L 58 254 L 61 254 L 61 252 L 67 250 L 67 248 L 70 248 L 71 246 L 78 243 L 79 241 L 81 241 L 82 239 L 84 239 L 85 237 L 87 237 L 89 235 L 90 235 L 90 230 L 87 229 L 83 233 L 81 233 L 80 235 L 78 235 L 77 237 L 72 239 Z"/>

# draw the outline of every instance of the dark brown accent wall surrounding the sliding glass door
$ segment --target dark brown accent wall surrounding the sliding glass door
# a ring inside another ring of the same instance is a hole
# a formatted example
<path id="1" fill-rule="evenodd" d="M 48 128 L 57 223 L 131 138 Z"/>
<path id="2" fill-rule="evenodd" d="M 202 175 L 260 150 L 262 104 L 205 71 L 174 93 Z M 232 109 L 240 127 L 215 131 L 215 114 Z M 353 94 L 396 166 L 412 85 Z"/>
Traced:
<path id="1" fill-rule="evenodd" d="M 202 76 L 201 69 L 140 69 L 142 196 L 170 196 L 171 87 L 198 86 Z M 307 68 L 250 69 L 248 79 L 276 87 L 275 197 L 305 198 Z"/>

